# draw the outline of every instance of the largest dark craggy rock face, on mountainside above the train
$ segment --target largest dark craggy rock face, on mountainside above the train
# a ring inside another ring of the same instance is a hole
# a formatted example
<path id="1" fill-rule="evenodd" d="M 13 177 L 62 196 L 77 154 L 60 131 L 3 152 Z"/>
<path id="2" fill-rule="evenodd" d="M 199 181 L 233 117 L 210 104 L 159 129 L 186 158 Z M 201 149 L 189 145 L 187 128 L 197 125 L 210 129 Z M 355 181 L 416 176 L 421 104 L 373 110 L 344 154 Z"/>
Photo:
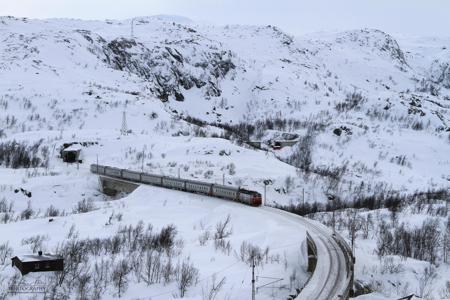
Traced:
<path id="1" fill-rule="evenodd" d="M 204 96 L 222 94 L 220 80 L 236 68 L 231 51 L 211 49 L 192 62 L 174 46 L 155 45 L 148 48 L 134 39 L 117 38 L 107 42 L 90 32 L 80 32 L 95 53 L 110 67 L 138 75 L 148 81 L 149 89 L 161 101 L 173 97 L 184 101 L 184 91 L 201 89 Z"/>

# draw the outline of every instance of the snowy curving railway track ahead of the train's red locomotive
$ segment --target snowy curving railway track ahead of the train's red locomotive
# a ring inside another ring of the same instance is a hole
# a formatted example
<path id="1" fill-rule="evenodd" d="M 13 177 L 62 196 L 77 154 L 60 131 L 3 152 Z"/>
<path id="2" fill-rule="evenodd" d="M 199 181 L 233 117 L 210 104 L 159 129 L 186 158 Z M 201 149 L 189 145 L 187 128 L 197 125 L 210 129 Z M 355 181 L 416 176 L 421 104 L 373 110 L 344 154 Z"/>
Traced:
<path id="1" fill-rule="evenodd" d="M 91 167 L 93 173 L 98 174 Z M 98 169 L 97 169 L 98 170 Z M 122 174 L 122 173 L 121 173 Z M 113 176 L 113 179 L 128 181 L 130 184 L 147 184 Z M 301 216 L 270 207 L 255 208 L 268 217 L 283 216 L 286 221 L 301 224 L 310 233 L 317 250 L 317 264 L 306 286 L 296 300 L 338 300 L 349 299 L 353 286 L 353 256 L 351 249 L 339 234 L 334 234 L 326 226 Z"/>

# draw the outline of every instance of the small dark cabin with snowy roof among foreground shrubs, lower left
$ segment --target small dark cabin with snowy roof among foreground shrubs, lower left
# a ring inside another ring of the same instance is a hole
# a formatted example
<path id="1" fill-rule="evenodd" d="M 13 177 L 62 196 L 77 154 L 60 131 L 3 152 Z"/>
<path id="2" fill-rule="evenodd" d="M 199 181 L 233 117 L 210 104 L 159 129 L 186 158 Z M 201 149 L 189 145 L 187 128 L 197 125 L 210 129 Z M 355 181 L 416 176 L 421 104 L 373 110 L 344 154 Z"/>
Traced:
<path id="1" fill-rule="evenodd" d="M 38 254 L 20 255 L 11 258 L 12 267 L 19 269 L 22 275 L 30 272 L 48 272 L 48 271 L 62 271 L 64 268 L 64 259 L 59 255 Z"/>

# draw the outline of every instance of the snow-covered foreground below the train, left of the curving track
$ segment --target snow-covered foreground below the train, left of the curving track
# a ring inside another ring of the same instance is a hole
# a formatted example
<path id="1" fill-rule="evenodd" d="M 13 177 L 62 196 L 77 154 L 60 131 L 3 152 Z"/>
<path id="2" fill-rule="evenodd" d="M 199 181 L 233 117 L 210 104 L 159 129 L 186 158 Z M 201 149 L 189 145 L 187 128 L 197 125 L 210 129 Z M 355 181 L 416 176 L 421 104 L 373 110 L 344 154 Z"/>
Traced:
<path id="1" fill-rule="evenodd" d="M 182 240 L 183 246 L 181 254 L 174 260 L 189 257 L 200 271 L 196 286 L 187 293 L 192 299 L 202 299 L 202 290 L 207 293 L 207 286 L 212 284 L 213 277 L 218 281 L 225 278 L 225 284 L 218 295 L 220 299 L 242 299 L 249 294 L 250 265 L 240 260 L 240 248 L 244 242 L 263 250 L 268 248 L 267 257 L 256 268 L 257 276 L 283 279 L 273 289 L 261 289 L 258 298 L 284 298 L 293 287 L 301 286 L 307 279 L 304 272 L 304 228 L 259 208 L 150 186 L 141 186 L 124 198 L 112 200 L 98 192 L 97 177 L 90 174 L 84 166 L 77 170 L 72 165 L 65 167 L 58 175 L 41 174 L 33 177 L 27 177 L 24 171 L 3 169 L 1 178 L 8 178 L 9 182 L 3 185 L 2 194 L 14 202 L 15 209 L 25 208 L 29 201 L 36 213 L 41 211 L 36 218 L 17 220 L 0 226 L 2 241 L 8 241 L 15 255 L 30 253 L 30 245 L 24 244 L 24 240 L 30 237 L 43 236 L 41 249 L 51 252 L 61 242 L 70 240 L 68 235 L 71 231 L 76 231 L 77 238 L 81 240 L 104 238 L 112 236 L 119 226 L 136 226 L 142 221 L 144 227 L 151 224 L 156 231 L 170 224 L 175 225 L 177 239 Z M 14 194 L 7 186 L 23 187 L 32 191 L 32 196 L 29 198 L 21 192 Z M 73 213 L 76 203 L 83 199 L 91 199 L 94 210 Z M 66 215 L 52 217 L 53 221 L 49 222 L 49 217 L 43 217 L 43 212 L 51 205 L 65 210 Z M 230 246 L 226 250 L 216 249 L 216 225 L 225 221 L 228 216 L 228 229 L 232 233 L 226 238 L 226 242 L 229 241 Z M 207 240 L 201 243 L 202 237 L 205 236 Z M 117 256 L 120 255 L 122 254 Z M 14 272 L 17 271 L 9 267 L 7 261 L 2 267 L 1 276 L 9 278 Z M 296 278 L 290 282 L 289 276 L 292 274 L 296 274 Z M 36 278 L 45 281 L 46 275 L 26 276 L 28 281 Z M 123 294 L 125 298 L 146 295 L 152 299 L 168 299 L 178 294 L 175 282 L 147 286 L 134 277 L 130 281 L 127 292 Z M 260 278 L 257 286 L 267 282 L 268 279 Z M 7 289 L 7 284 L 8 280 L 2 281 L 3 290 Z M 111 287 L 104 296 L 109 298 L 115 294 L 117 291 Z M 153 295 L 161 297 L 154 298 Z"/>

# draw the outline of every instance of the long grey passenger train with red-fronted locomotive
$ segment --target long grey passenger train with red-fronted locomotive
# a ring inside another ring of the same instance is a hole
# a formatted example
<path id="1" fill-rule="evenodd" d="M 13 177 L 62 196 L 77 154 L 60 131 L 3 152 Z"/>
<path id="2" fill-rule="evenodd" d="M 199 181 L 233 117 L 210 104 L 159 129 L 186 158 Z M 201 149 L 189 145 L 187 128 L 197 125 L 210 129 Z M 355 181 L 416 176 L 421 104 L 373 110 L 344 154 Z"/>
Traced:
<path id="1" fill-rule="evenodd" d="M 137 183 L 145 183 L 164 188 L 203 194 L 211 197 L 227 199 L 251 206 L 262 204 L 261 194 L 256 191 L 221 184 L 213 184 L 198 180 L 162 176 L 144 172 L 130 171 L 98 164 L 91 165 L 91 172 L 98 175 L 128 180 Z"/>

